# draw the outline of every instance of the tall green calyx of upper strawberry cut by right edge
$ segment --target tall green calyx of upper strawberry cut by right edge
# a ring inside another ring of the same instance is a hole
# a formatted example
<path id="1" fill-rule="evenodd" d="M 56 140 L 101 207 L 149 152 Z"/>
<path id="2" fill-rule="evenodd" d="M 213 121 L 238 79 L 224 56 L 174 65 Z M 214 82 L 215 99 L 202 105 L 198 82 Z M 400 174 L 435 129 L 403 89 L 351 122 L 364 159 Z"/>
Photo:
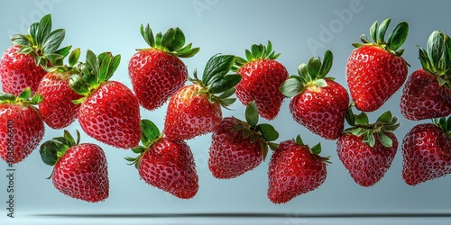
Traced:
<path id="1" fill-rule="evenodd" d="M 426 49 L 419 47 L 421 67 L 437 77 L 439 85 L 451 90 L 451 39 L 443 31 L 433 31 Z"/>

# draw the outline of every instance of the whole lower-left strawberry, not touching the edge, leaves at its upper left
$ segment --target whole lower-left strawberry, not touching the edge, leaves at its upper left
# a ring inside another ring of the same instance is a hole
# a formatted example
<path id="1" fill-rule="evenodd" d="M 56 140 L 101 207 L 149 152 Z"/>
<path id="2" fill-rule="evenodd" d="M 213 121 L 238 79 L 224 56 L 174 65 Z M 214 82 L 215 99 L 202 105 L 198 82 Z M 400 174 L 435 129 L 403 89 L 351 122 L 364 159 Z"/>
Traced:
<path id="1" fill-rule="evenodd" d="M 42 161 L 53 166 L 53 186 L 71 198 L 102 202 L 109 195 L 108 168 L 102 148 L 92 143 L 80 144 L 64 130 L 64 136 L 44 142 Z M 50 177 L 49 177 L 50 178 Z"/>

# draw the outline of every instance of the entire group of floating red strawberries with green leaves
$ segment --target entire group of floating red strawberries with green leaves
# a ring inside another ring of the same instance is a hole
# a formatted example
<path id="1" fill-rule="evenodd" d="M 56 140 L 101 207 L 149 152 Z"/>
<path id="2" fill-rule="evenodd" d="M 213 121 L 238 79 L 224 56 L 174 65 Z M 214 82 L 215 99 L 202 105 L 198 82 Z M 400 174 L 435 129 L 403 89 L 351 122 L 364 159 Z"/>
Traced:
<path id="1" fill-rule="evenodd" d="M 186 140 L 211 133 L 208 168 L 214 177 L 243 175 L 259 166 L 272 149 L 268 198 L 289 202 L 323 184 L 329 163 L 329 157 L 319 156 L 320 144 L 309 147 L 300 136 L 276 143 L 278 131 L 259 123 L 259 117 L 272 121 L 290 97 L 293 119 L 324 139 L 337 139 L 338 157 L 354 181 L 371 186 L 391 166 L 398 148 L 393 130 L 399 123 L 391 112 L 370 123 L 365 112 L 382 107 L 408 73 L 399 48 L 409 25 L 399 23 L 384 40 L 390 22 L 373 24 L 373 42 L 363 35 L 363 43 L 354 44 L 346 64 L 350 103 L 345 87 L 327 77 L 333 64 L 329 50 L 322 61 L 310 58 L 299 65 L 298 76 L 289 76 L 268 41 L 245 50 L 245 58 L 214 55 L 201 77 L 196 70 L 189 77 L 180 58 L 193 57 L 199 48 L 185 45 L 179 28 L 154 35 L 149 25 L 142 25 L 141 33 L 150 48 L 137 49 L 128 63 L 131 90 L 109 80 L 120 55 L 87 50 L 86 61 L 78 61 L 80 49 L 60 48 L 65 31 L 51 31 L 51 15 L 46 15 L 31 25 L 28 34 L 14 35 L 0 61 L 5 92 L 0 94 L 0 157 L 19 163 L 38 148 L 44 124 L 60 130 L 77 120 L 93 139 L 131 148 L 137 156 L 125 159 L 136 166 L 144 182 L 190 199 L 198 193 L 198 174 Z M 446 120 L 451 113 L 451 40 L 434 31 L 428 48 L 420 48 L 419 59 L 422 68 L 407 81 L 400 110 L 409 120 L 435 123 L 419 124 L 403 139 L 402 177 L 411 185 L 451 173 L 451 120 Z M 246 105 L 243 120 L 222 116 L 222 109 L 235 103 L 234 94 Z M 140 110 L 152 111 L 164 103 L 168 108 L 160 131 L 141 118 Z M 354 114 L 354 107 L 362 112 Z M 345 129 L 345 121 L 349 128 Z M 61 193 L 87 202 L 104 201 L 109 194 L 105 153 L 94 143 L 79 142 L 78 131 L 74 139 L 64 130 L 62 137 L 41 144 L 41 159 L 54 166 L 52 182 Z"/>

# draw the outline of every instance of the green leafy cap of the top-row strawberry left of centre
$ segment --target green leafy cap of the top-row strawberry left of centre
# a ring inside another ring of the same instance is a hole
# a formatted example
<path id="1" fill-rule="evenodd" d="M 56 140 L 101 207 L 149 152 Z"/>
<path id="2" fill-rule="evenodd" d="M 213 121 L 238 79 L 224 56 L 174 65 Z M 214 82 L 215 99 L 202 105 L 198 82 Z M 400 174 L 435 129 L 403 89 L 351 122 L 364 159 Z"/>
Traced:
<path id="1" fill-rule="evenodd" d="M 140 31 L 143 39 L 152 49 L 160 49 L 179 58 L 191 58 L 200 50 L 200 48 L 192 48 L 192 43 L 185 45 L 185 34 L 179 27 L 170 28 L 164 34 L 158 32 L 153 36 L 150 25 L 147 24 L 144 28 L 141 24 Z"/>

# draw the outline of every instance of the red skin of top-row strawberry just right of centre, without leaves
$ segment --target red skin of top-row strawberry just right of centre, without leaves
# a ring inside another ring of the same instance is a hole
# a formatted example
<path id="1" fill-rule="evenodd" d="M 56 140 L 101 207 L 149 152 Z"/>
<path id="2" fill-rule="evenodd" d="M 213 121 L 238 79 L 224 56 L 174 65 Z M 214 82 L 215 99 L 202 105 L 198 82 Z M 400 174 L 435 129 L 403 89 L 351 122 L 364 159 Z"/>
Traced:
<path id="1" fill-rule="evenodd" d="M 288 78 L 287 69 L 276 60 L 260 59 L 246 63 L 237 74 L 242 76 L 235 86 L 238 100 L 244 105 L 255 101 L 262 118 L 273 120 L 285 98 L 279 87 Z"/>

